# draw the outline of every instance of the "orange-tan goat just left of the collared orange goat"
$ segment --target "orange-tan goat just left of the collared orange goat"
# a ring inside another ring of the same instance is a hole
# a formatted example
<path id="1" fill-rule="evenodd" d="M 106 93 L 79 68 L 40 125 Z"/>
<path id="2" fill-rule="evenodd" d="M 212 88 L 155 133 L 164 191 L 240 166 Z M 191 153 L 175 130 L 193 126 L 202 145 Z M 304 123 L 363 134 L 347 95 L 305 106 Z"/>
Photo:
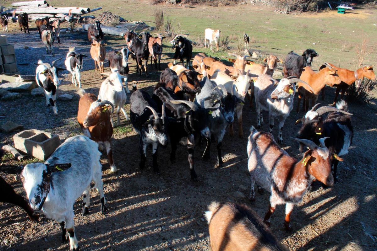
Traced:
<path id="1" fill-rule="evenodd" d="M 307 86 L 299 84 L 297 90 L 299 93 L 297 113 L 300 110 L 301 98 L 303 98 L 302 110 L 307 112 L 309 109 L 309 100 L 311 100 L 310 107 L 312 107 L 317 102 L 318 95 L 325 85 L 333 86 L 341 82 L 337 75 L 337 70 L 329 65 L 318 72 L 314 72 L 310 66 L 305 67 L 303 70 L 300 79 L 307 82 L 313 90 L 309 91 L 307 90 Z"/>

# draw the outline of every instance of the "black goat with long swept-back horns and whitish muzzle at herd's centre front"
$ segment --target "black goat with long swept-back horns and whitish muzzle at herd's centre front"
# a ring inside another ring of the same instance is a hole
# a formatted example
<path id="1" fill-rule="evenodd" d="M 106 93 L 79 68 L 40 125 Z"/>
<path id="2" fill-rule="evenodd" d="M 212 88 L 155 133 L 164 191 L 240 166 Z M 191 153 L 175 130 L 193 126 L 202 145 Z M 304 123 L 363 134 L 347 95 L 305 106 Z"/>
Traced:
<path id="1" fill-rule="evenodd" d="M 160 107 L 162 103 L 166 105 L 166 114 L 175 120 L 169 122 L 169 137 L 172 145 L 170 161 L 175 162 L 175 152 L 177 145 L 182 138 L 187 138 L 187 150 L 189 152 L 190 175 L 193 181 L 197 180 L 194 169 L 194 148 L 195 137 L 204 137 L 209 140 L 210 130 L 208 128 L 208 110 L 199 108 L 193 102 L 187 100 L 176 100 L 178 97 L 164 87 L 155 90 L 152 99 Z"/>

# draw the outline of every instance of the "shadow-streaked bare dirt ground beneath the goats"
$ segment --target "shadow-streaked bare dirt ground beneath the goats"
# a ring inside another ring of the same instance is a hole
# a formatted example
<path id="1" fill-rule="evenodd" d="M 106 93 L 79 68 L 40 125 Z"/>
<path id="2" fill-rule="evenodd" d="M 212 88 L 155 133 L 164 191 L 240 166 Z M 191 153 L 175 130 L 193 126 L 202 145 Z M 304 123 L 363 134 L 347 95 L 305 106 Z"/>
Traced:
<path id="1" fill-rule="evenodd" d="M 12 24 L 14 25 L 14 24 Z M 13 31 L 14 32 L 14 31 Z M 20 31 L 7 34 L 8 41 L 14 44 L 18 62 L 29 62 L 21 66 L 23 74 L 33 74 L 38 59 L 51 62 L 60 57 L 65 58 L 70 46 L 89 56 L 84 60 L 81 73 L 83 88 L 98 94 L 101 84 L 99 74 L 93 70 L 90 58 L 89 42 L 81 33 L 62 34 L 62 44 L 55 45 L 55 57 L 46 55 L 36 29 L 31 35 Z M 106 37 L 108 51 L 125 45 L 120 37 Z M 25 49 L 28 46 L 29 49 Z M 110 49 L 111 47 L 111 49 Z M 166 54 L 167 53 L 167 54 Z M 169 47 L 164 47 L 162 68 L 171 62 Z M 315 59 L 314 59 L 315 60 Z M 159 79 L 159 71 L 148 66 L 150 78 L 139 77 L 135 73 L 135 62 L 130 59 L 129 87 L 138 82 L 138 88 L 152 93 L 153 86 Z M 63 60 L 58 61 L 63 67 Z M 105 62 L 105 70 L 109 71 Z M 63 72 L 67 73 L 67 72 Z M 63 76 L 57 96 L 69 93 L 74 99 L 69 102 L 58 101 L 59 115 L 54 116 L 51 107 L 45 106 L 43 96 L 33 97 L 26 93 L 21 99 L 2 101 L 0 124 L 7 120 L 25 126 L 25 129 L 37 128 L 67 138 L 81 134 L 76 115 L 77 90 L 70 84 L 70 75 Z M 331 103 L 334 90 L 326 88 L 325 101 Z M 295 106 L 296 107 L 295 100 Z M 354 139 L 349 154 L 339 164 L 338 183 L 323 189 L 315 183 L 312 192 L 308 192 L 303 201 L 293 211 L 293 233 L 284 227 L 284 206 L 277 207 L 271 220 L 271 230 L 290 250 L 375 250 L 377 249 L 377 183 L 376 183 L 376 149 L 377 149 L 377 107 L 372 105 L 349 104 L 354 115 Z M 126 104 L 129 113 L 129 102 Z M 264 114 L 267 121 L 267 114 Z M 298 144 L 290 137 L 294 136 L 300 125 L 294 122 L 303 116 L 292 111 L 285 122 L 283 134 L 284 149 L 300 158 Z M 114 117 L 115 118 L 115 117 Z M 224 167 L 216 166 L 216 151 L 211 149 L 211 160 L 204 162 L 200 156 L 204 145 L 195 148 L 195 167 L 199 181 L 193 183 L 189 175 L 187 150 L 178 148 L 177 162 L 169 161 L 170 146 L 159 148 L 158 163 L 161 173 L 156 175 L 151 169 L 150 150 L 148 168 L 139 170 L 139 136 L 135 133 L 123 115 L 121 126 L 114 129 L 113 155 L 118 173 L 109 172 L 106 154 L 103 154 L 103 181 L 108 211 L 100 214 L 100 201 L 97 192 L 92 189 L 92 203 L 89 215 L 81 216 L 81 198 L 74 205 L 75 228 L 80 250 L 207 250 L 208 227 L 204 211 L 211 201 L 232 201 L 250 204 L 250 180 L 247 172 L 247 136 L 251 125 L 256 125 L 254 108 L 244 106 L 244 138 L 225 134 L 222 153 Z M 235 126 L 237 128 L 237 125 Z M 262 127 L 268 130 L 268 125 Z M 14 134 L 0 132 L 0 143 L 11 144 Z M 237 133 L 235 134 L 237 135 Z M 273 131 L 277 136 L 277 128 Z M 10 157 L 5 164 L 17 163 Z M 0 172 L 17 191 L 25 197 L 22 184 L 12 175 Z M 268 208 L 268 193 L 256 195 L 251 207 L 263 217 Z M 67 250 L 68 244 L 61 244 L 61 230 L 57 222 L 40 215 L 40 222 L 35 224 L 27 219 L 26 213 L 10 204 L 0 204 L 0 250 Z"/>

